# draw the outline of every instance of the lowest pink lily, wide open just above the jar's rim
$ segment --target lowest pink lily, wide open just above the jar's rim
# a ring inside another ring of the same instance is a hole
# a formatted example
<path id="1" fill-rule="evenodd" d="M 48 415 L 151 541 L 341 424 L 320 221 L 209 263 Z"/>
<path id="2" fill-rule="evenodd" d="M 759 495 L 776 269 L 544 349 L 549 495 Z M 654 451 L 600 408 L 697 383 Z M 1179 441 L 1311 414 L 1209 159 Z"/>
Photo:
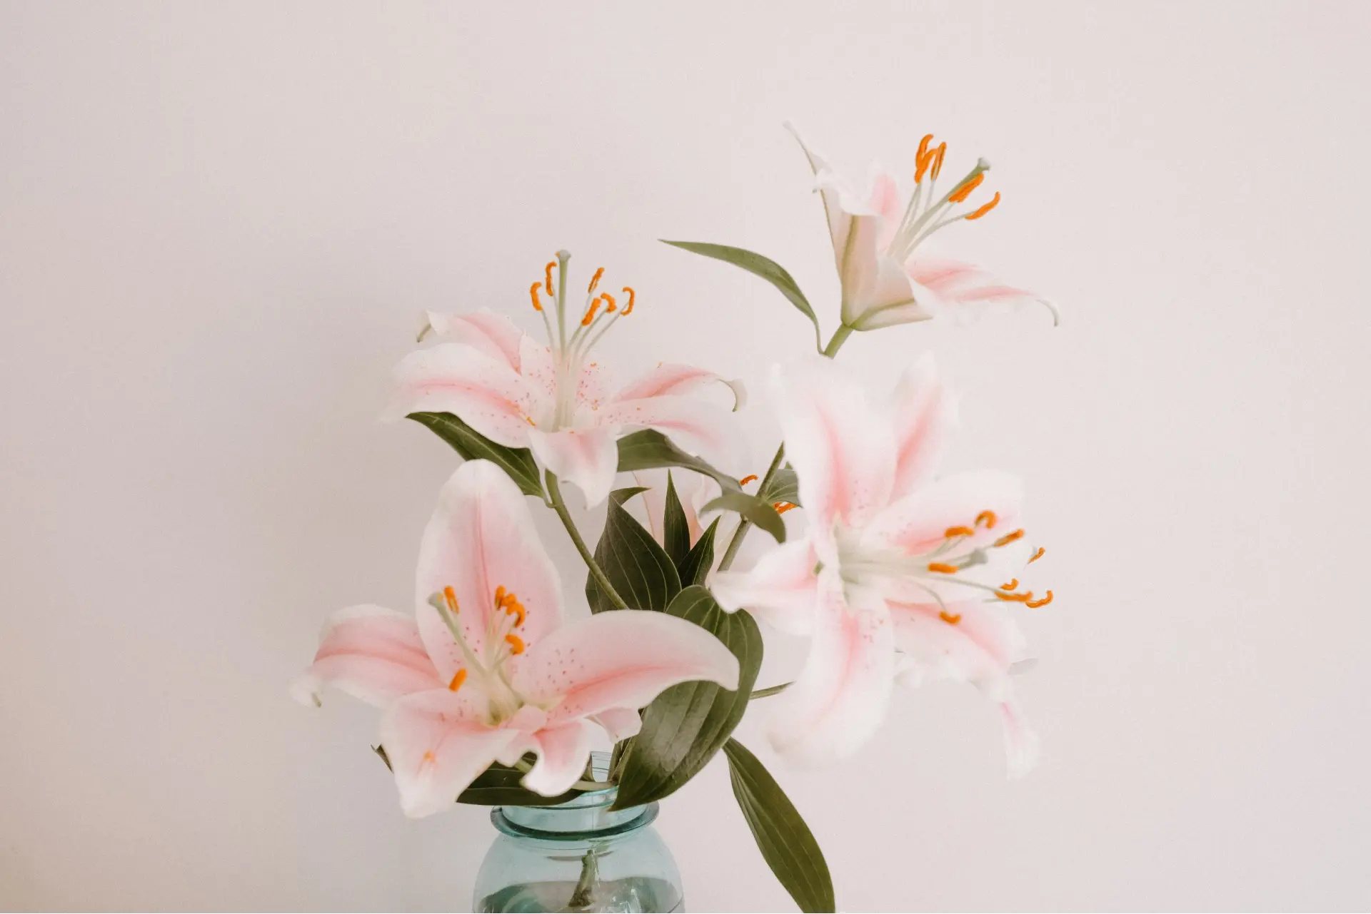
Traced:
<path id="1" fill-rule="evenodd" d="M 705 629 L 620 610 L 562 625 L 561 585 L 528 503 L 494 463 L 443 486 L 424 532 L 415 614 L 343 610 L 295 693 L 325 685 L 385 707 L 381 744 L 407 815 L 447 808 L 491 762 L 537 762 L 524 785 L 557 796 L 591 741 L 636 733 L 638 708 L 677 682 L 738 688 L 738 659 Z"/>

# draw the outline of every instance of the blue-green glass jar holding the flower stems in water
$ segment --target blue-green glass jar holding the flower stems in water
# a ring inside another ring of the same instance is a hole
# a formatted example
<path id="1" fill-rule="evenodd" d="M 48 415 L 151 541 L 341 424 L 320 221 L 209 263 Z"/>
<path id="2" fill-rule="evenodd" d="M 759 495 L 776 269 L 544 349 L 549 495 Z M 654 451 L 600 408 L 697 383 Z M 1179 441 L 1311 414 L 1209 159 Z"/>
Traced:
<path id="1" fill-rule="evenodd" d="M 610 810 L 617 791 L 561 806 L 503 806 L 476 874 L 474 911 L 684 911 L 657 803 Z"/>

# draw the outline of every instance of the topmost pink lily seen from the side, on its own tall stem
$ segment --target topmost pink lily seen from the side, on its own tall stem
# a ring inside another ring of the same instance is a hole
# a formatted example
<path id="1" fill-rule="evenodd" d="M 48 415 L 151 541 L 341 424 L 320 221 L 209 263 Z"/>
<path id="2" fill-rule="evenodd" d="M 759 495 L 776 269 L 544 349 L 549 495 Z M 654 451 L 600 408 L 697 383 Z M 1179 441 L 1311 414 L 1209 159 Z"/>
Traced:
<path id="1" fill-rule="evenodd" d="M 928 134 L 914 156 L 913 189 L 884 169 L 872 166 L 869 188 L 860 193 L 813 152 L 792 125 L 828 215 L 828 233 L 842 284 L 843 325 L 854 330 L 875 330 L 956 314 L 965 306 L 1036 301 L 1052 311 L 1057 307 L 1027 289 L 1006 285 L 986 269 L 965 260 L 938 255 L 928 238 L 956 222 L 975 222 L 999 204 L 999 192 L 984 203 L 972 204 L 990 171 L 979 159 L 961 181 L 938 196 L 947 144 L 932 144 Z"/>

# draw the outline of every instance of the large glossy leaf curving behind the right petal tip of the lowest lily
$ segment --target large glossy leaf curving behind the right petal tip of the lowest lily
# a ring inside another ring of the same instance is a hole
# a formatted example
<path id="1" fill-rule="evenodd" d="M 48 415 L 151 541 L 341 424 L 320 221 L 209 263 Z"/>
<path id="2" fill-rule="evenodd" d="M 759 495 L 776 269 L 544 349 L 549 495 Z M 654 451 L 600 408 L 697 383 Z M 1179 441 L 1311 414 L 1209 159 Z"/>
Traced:
<path id="1" fill-rule="evenodd" d="M 709 763 L 743 719 L 757 670 L 762 636 L 747 613 L 724 613 L 709 591 L 688 586 L 666 608 L 723 641 L 739 663 L 738 691 L 714 682 L 681 682 L 658 695 L 643 713 L 643 729 L 620 776 L 616 808 L 670 796 Z"/>

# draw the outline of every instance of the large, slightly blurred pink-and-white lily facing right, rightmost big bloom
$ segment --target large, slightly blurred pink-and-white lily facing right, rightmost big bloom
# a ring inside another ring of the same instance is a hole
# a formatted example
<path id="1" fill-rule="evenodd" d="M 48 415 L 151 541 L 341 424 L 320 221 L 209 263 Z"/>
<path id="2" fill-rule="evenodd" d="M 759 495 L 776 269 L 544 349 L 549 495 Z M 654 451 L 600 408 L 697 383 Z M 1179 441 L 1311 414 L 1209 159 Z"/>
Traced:
<path id="1" fill-rule="evenodd" d="M 951 677 L 999 706 L 1010 774 L 1027 771 L 1036 737 L 1010 681 L 1024 640 L 1005 608 L 1045 606 L 1052 591 L 1035 599 L 1019 584 L 1042 551 L 1019 526 L 1017 481 L 934 477 L 954 406 L 931 362 L 883 403 L 828 359 L 780 371 L 777 386 L 808 528 L 713 582 L 724 608 L 812 636 L 805 667 L 776 699 L 776 748 L 809 763 L 851 755 L 880 725 L 897 676 Z"/>

